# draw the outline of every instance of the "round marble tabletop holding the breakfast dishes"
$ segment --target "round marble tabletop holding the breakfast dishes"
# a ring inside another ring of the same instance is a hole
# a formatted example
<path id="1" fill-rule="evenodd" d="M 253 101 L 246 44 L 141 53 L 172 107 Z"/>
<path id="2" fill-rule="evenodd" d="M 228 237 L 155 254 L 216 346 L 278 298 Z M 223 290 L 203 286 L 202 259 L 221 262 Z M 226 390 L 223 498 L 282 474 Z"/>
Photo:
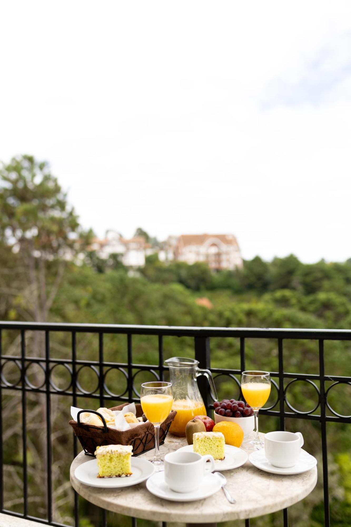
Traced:
<path id="1" fill-rule="evenodd" d="M 186 444 L 185 438 L 168 434 L 160 447 L 161 454 Z M 149 459 L 153 452 L 141 456 Z M 74 471 L 90 460 L 91 457 L 81 452 L 72 462 L 70 477 L 77 493 L 103 509 L 153 521 L 206 524 L 254 518 L 303 500 L 317 482 L 317 467 L 304 474 L 278 476 L 262 472 L 247 461 L 239 469 L 223 472 L 228 482 L 227 489 L 237 500 L 236 504 L 231 505 L 221 489 L 206 500 L 178 503 L 154 496 L 147 490 L 145 482 L 124 489 L 96 489 L 84 485 L 75 479 Z"/>

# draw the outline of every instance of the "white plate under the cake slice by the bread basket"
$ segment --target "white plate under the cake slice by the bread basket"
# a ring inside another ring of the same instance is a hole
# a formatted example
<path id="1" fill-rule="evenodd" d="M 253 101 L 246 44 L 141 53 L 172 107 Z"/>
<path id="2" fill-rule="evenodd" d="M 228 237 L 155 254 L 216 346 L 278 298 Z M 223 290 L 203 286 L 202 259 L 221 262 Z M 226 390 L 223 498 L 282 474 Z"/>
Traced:
<path id="1" fill-rule="evenodd" d="M 78 481 L 91 487 L 100 489 L 117 489 L 118 487 L 130 487 L 148 479 L 154 473 L 154 466 L 150 461 L 132 457 L 131 476 L 126 477 L 98 477 L 98 461 L 91 460 L 77 466 L 74 475 Z"/>

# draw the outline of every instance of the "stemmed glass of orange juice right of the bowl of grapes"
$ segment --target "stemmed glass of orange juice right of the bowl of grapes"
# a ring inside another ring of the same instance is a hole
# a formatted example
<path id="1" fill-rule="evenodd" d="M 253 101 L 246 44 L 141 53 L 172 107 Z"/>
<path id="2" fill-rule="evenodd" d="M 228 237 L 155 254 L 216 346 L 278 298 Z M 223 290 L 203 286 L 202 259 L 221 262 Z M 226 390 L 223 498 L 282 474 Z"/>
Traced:
<path id="1" fill-rule="evenodd" d="M 258 411 L 264 406 L 270 394 L 270 375 L 269 372 L 251 371 L 241 374 L 241 392 L 246 402 L 252 406 L 255 416 L 255 428 L 253 430 L 253 440 L 248 444 L 262 448 L 264 442 L 258 436 Z M 248 445 L 246 444 L 246 446 Z"/>

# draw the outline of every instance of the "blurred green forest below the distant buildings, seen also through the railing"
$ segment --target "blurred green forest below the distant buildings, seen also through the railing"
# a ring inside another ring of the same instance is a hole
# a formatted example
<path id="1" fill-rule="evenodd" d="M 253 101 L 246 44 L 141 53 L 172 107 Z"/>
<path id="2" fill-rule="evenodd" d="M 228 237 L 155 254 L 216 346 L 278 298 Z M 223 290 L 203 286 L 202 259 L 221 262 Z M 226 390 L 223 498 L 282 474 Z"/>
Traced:
<path id="1" fill-rule="evenodd" d="M 157 253 L 147 257 L 143 268 L 125 268 L 118 255 L 102 260 L 89 250 L 92 231 L 84 231 L 67 203 L 57 179 L 46 163 L 30 156 L 14 158 L 0 170 L 0 319 L 60 321 L 65 323 L 145 324 L 172 326 L 346 328 L 351 327 L 351 259 L 341 263 L 320 261 L 303 264 L 294 255 L 274 258 L 259 256 L 244 261 L 242 269 L 213 273 L 206 264 L 165 264 Z M 121 226 L 122 228 L 122 226 Z M 146 233 L 145 233 L 145 236 Z M 70 258 L 67 259 L 67 251 Z M 16 331 L 3 331 L 3 353 L 19 355 Z M 44 357 L 43 335 L 29 334 L 28 355 Z M 157 340 L 133 339 L 133 360 L 157 364 Z M 64 333 L 52 336 L 51 354 L 69 358 L 70 339 Z M 95 360 L 94 335 L 79 335 L 77 356 Z M 190 338 L 165 338 L 165 358 L 193 356 Z M 285 370 L 318 373 L 318 343 L 289 341 L 284 348 Z M 126 342 L 122 337 L 105 340 L 105 360 L 126 362 Z M 277 343 L 248 339 L 247 367 L 277 370 Z M 235 339 L 211 341 L 213 367 L 239 367 L 239 343 Z M 326 374 L 351 375 L 351 343 L 326 342 Z M 40 368 L 28 372 L 33 385 L 40 383 Z M 14 382 L 18 372 L 7 363 L 2 375 Z M 89 372 L 80 379 L 90 383 Z M 54 374 L 57 386 L 66 382 L 64 370 Z M 140 375 L 140 382 L 148 380 Z M 111 379 L 118 391 L 122 380 Z M 235 383 L 216 379 L 220 398 L 235 397 Z M 117 392 L 118 393 L 118 392 Z M 339 385 L 330 392 L 330 404 L 342 415 L 351 415 L 351 389 Z M 272 394 L 275 397 L 275 394 Z M 307 383 L 296 383 L 289 402 L 308 411 L 316 393 Z M 22 446 L 21 408 L 17 392 L 4 390 L 3 440 L 5 448 L 5 505 L 21 512 Z M 54 519 L 72 525 L 73 493 L 69 482 L 72 460 L 72 432 L 67 397 L 52 397 Z M 118 404 L 118 400 L 115 402 Z M 269 403 L 268 403 L 269 404 Z M 28 470 L 30 514 L 46 516 L 45 505 L 45 401 L 29 394 Z M 97 401 L 79 398 L 79 405 L 99 406 Z M 318 413 L 318 411 L 317 411 Z M 275 417 L 262 416 L 260 430 L 278 426 Z M 328 426 L 329 486 L 331 524 L 349 525 L 351 517 L 351 434 L 348 424 Z M 289 509 L 291 525 L 324 525 L 321 487 L 320 424 L 305 419 L 287 419 L 287 429 L 301 431 L 306 450 L 319 461 L 316 490 L 303 503 Z M 40 465 L 40 466 L 38 466 Z M 38 490 L 39 489 L 39 490 Z M 98 526 L 99 512 L 81 502 L 83 527 Z M 129 525 L 120 516 L 109 517 L 112 527 Z M 238 522 L 238 525 L 242 522 Z M 252 520 L 254 527 L 281 525 L 281 514 Z M 156 525 L 138 521 L 138 525 Z M 225 524 L 222 524 L 223 526 Z M 229 526 L 228 526 L 229 527 Z"/>

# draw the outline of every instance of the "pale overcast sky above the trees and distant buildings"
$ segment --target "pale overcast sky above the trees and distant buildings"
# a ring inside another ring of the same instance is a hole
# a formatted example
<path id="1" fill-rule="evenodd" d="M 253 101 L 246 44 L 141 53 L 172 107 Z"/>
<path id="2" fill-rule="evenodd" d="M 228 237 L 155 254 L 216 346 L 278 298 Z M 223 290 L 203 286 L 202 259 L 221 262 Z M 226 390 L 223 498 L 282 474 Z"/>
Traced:
<path id="1" fill-rule="evenodd" d="M 351 3 L 0 7 L 0 160 L 51 163 L 85 227 L 351 257 Z"/>

